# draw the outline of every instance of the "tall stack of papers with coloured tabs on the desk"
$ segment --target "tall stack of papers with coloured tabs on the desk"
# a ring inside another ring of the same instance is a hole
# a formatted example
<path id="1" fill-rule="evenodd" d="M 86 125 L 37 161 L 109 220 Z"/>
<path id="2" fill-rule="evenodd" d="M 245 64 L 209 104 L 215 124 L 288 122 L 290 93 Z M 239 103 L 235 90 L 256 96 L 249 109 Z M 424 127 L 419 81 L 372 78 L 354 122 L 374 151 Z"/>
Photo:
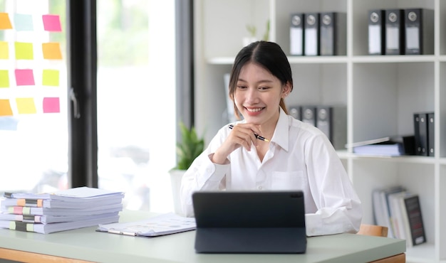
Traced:
<path id="1" fill-rule="evenodd" d="M 5 193 L 0 228 L 48 234 L 118 222 L 124 193 L 79 187 L 53 193 Z"/>

